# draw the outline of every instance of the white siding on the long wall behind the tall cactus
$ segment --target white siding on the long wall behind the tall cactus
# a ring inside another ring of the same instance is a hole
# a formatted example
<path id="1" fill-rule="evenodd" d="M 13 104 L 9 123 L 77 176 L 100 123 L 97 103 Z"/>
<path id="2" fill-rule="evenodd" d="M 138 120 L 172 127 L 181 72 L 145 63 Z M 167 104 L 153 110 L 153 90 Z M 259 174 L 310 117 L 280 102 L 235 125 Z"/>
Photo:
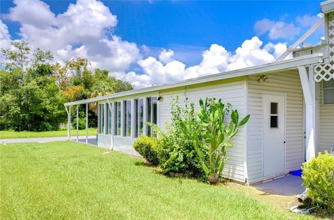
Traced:
<path id="1" fill-rule="evenodd" d="M 195 103 L 195 108 L 199 108 L 199 99 L 216 98 L 221 99 L 223 103 L 231 103 L 232 108 L 236 108 L 240 118 L 246 116 L 246 81 L 245 78 L 239 78 L 237 81 L 223 82 L 218 85 L 205 85 L 201 87 L 192 87 L 173 92 L 161 92 L 163 100 L 159 103 L 159 124 L 164 128 L 166 121 L 170 121 L 170 102 L 171 95 L 179 95 L 180 105 L 184 105 L 185 97 L 189 103 Z M 228 161 L 226 162 L 224 174 L 226 177 L 244 182 L 246 175 L 244 173 L 246 130 L 241 128 L 239 133 L 233 137 L 234 146 L 228 149 Z"/>

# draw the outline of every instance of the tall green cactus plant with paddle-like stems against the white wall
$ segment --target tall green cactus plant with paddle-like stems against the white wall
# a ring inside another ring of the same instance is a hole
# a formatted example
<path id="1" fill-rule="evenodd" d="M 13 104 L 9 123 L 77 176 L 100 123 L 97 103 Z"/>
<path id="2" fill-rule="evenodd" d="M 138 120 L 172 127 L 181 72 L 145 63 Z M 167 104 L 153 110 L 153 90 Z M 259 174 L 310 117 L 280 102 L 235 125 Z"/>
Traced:
<path id="1" fill-rule="evenodd" d="M 225 116 L 230 114 L 230 122 Z M 181 129 L 193 141 L 202 167 L 210 183 L 216 183 L 228 160 L 226 151 L 232 147 L 231 139 L 241 126 L 247 123 L 250 115 L 239 121 L 237 110 L 230 111 L 230 104 L 225 105 L 221 99 L 200 99 L 200 110 L 196 115 L 184 117 Z"/>

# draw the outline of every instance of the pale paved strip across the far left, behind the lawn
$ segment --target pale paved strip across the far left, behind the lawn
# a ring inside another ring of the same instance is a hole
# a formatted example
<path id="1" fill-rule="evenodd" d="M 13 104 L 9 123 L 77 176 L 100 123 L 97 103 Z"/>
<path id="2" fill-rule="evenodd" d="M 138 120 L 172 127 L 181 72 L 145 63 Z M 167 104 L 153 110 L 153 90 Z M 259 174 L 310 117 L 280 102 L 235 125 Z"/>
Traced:
<path id="1" fill-rule="evenodd" d="M 71 137 L 76 141 L 77 137 Z M 0 139 L 0 144 L 9 143 L 28 143 L 28 142 L 57 142 L 65 141 L 67 137 L 33 137 L 33 138 L 15 138 L 15 139 Z M 86 143 L 86 136 L 79 136 L 79 142 Z M 97 145 L 95 136 L 88 136 L 88 144 Z"/>

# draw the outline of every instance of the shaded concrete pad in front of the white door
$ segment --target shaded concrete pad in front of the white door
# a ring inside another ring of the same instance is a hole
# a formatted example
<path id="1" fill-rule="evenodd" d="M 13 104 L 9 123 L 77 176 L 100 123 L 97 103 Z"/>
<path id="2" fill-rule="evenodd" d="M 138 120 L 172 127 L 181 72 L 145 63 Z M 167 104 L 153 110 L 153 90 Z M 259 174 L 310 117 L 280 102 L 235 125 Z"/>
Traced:
<path id="1" fill-rule="evenodd" d="M 301 176 L 289 175 L 252 186 L 267 194 L 296 196 L 305 191 L 305 187 L 301 186 L 303 182 Z"/>

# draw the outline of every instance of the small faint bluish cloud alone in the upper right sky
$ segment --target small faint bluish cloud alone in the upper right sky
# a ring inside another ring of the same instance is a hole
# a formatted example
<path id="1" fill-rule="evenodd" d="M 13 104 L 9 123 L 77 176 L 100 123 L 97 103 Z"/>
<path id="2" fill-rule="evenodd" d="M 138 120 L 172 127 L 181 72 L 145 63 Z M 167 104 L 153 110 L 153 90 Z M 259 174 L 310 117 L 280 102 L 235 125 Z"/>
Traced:
<path id="1" fill-rule="evenodd" d="M 301 32 L 301 27 L 294 23 L 275 22 L 270 19 L 262 19 L 255 23 L 254 31 L 258 35 L 268 33 L 269 39 L 277 40 L 279 38 L 293 38 Z"/>

